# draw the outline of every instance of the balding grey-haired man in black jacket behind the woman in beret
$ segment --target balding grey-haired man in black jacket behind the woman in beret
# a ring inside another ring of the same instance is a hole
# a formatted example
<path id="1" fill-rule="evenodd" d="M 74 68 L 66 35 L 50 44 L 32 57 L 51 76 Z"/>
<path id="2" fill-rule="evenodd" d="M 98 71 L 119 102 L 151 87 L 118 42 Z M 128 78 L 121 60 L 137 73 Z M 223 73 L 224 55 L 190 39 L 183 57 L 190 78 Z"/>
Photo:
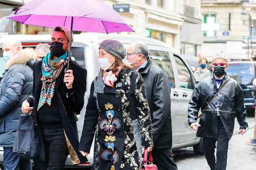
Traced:
<path id="1" fill-rule="evenodd" d="M 150 107 L 154 148 L 152 157 L 158 170 L 177 170 L 172 155 L 172 119 L 168 76 L 149 58 L 143 42 L 132 42 L 127 47 L 127 62 L 139 71 L 146 85 Z"/>

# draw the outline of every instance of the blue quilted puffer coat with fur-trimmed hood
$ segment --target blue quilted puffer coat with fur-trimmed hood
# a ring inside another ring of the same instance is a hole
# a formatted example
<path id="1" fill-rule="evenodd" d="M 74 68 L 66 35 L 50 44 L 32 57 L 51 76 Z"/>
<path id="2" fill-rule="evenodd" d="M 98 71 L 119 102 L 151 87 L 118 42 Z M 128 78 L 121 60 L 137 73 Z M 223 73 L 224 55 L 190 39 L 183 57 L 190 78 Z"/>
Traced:
<path id="1" fill-rule="evenodd" d="M 0 80 L 0 147 L 13 147 L 22 102 L 32 91 L 34 50 L 23 50 L 8 60 Z"/>

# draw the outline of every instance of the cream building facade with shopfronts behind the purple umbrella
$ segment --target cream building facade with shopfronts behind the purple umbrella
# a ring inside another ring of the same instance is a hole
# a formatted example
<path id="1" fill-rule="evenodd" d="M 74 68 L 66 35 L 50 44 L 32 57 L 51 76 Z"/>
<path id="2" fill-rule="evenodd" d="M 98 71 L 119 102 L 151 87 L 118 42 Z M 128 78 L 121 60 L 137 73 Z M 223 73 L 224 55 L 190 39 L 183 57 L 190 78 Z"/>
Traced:
<path id="1" fill-rule="evenodd" d="M 23 1 L 23 4 L 26 4 L 31 0 Z M 121 34 L 151 37 L 169 44 L 181 54 L 200 56 L 203 44 L 203 33 L 200 30 L 200 0 L 103 1 L 113 7 L 135 30 L 135 33 Z M 22 25 L 15 21 L 12 21 L 12 24 L 15 28 L 13 33 L 16 34 L 47 34 L 53 30 L 41 26 Z"/>

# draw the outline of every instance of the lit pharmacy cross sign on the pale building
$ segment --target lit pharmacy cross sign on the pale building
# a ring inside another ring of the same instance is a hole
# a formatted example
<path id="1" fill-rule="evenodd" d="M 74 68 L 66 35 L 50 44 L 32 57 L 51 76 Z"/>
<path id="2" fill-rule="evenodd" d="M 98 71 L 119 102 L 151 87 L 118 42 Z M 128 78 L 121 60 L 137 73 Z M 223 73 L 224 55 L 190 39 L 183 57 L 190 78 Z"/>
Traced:
<path id="1" fill-rule="evenodd" d="M 215 23 L 215 17 L 207 17 L 207 23 L 201 24 L 201 30 L 207 31 L 207 37 L 214 37 L 214 31 L 220 30 L 220 24 Z"/>

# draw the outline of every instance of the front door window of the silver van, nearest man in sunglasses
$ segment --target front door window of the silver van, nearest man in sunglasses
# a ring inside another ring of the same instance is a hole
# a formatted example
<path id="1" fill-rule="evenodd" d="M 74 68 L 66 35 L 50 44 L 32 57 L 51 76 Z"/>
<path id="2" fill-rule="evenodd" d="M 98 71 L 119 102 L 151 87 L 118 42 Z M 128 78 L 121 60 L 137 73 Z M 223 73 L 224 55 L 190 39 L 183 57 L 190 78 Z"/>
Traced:
<path id="1" fill-rule="evenodd" d="M 188 67 L 186 67 L 184 62 L 177 55 L 174 55 L 174 60 L 178 71 L 180 87 L 184 89 L 193 89 Z"/>

